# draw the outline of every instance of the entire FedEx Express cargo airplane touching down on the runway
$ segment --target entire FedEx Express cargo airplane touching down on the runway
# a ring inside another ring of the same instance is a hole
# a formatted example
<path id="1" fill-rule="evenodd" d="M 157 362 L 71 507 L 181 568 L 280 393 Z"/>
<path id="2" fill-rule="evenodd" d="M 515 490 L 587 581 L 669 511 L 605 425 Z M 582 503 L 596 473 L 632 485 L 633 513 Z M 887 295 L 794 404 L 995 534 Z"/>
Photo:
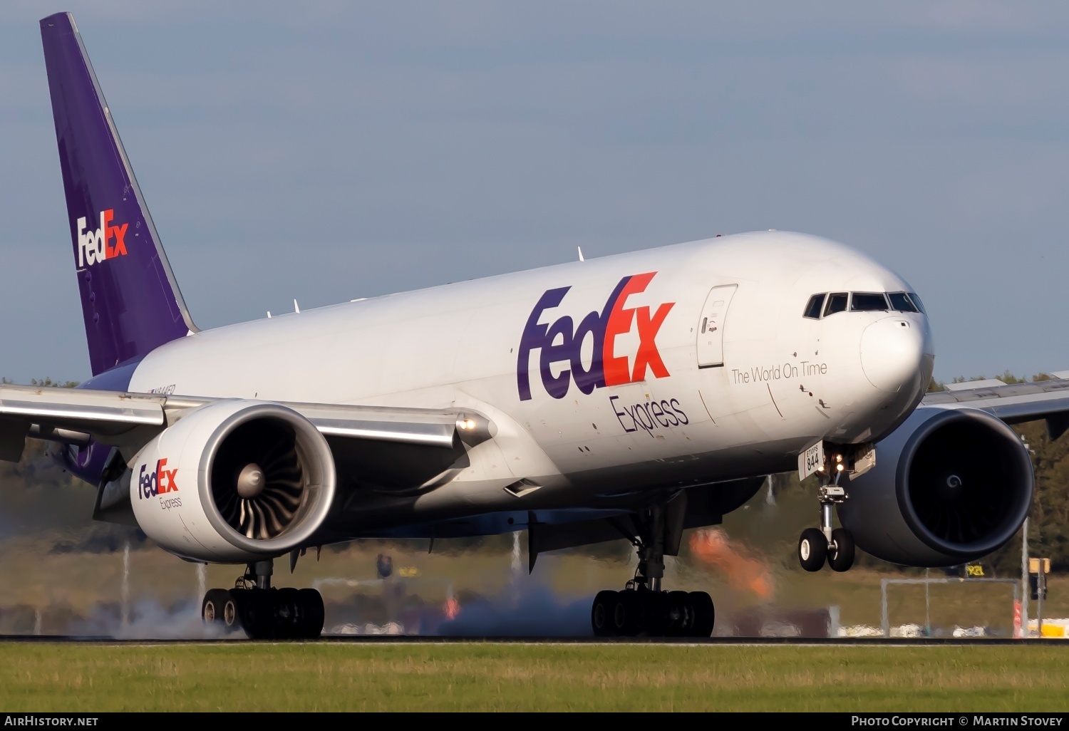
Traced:
<path id="1" fill-rule="evenodd" d="M 934 357 L 919 297 L 815 236 L 717 236 L 201 331 L 73 17 L 41 31 L 93 376 L 0 386 L 0 457 L 57 442 L 97 491 L 94 518 L 244 566 L 207 592 L 205 621 L 315 637 L 322 598 L 274 588 L 275 559 L 526 530 L 531 569 L 634 544 L 595 634 L 709 636 L 712 600 L 666 591 L 664 557 L 794 468 L 820 476 L 809 571 L 848 570 L 855 544 L 957 564 L 1024 519 L 1032 467 L 1006 421 L 1062 423 L 1069 382 L 917 408 Z"/>

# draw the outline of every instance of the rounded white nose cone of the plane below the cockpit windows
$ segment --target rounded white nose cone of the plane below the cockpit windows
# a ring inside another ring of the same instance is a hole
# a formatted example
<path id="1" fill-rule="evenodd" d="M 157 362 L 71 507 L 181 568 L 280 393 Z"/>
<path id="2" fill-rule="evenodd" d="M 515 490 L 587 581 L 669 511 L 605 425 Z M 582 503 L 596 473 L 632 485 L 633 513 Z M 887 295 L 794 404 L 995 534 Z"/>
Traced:
<path id="1" fill-rule="evenodd" d="M 896 393 L 903 386 L 916 386 L 933 349 L 925 318 L 884 317 L 862 332 L 862 370 L 881 391 Z M 921 389 L 927 386 L 920 384 Z"/>

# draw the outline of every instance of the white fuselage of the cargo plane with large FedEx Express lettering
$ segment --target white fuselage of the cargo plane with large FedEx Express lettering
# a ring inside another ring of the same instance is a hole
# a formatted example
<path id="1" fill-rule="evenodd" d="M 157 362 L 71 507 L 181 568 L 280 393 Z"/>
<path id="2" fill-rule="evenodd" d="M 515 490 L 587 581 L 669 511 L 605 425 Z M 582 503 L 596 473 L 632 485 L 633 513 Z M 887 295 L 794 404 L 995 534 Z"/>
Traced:
<path id="1" fill-rule="evenodd" d="M 146 356 L 129 390 L 474 409 L 495 438 L 412 499 L 421 518 L 595 507 L 888 433 L 928 385 L 927 317 L 803 311 L 817 293 L 903 291 L 846 246 L 740 234 L 199 332 Z M 540 488 L 502 489 L 521 479 Z"/>

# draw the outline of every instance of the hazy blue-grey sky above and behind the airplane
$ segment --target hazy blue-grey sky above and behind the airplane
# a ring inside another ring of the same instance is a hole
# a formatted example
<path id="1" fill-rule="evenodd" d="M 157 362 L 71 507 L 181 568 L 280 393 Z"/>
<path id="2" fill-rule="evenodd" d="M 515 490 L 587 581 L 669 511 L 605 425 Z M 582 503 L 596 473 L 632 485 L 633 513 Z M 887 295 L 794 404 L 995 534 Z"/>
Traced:
<path id="1" fill-rule="evenodd" d="M 89 375 L 37 20 L 81 30 L 202 328 L 780 229 L 936 377 L 1069 369 L 1069 5 L 7 2 L 0 374 Z"/>

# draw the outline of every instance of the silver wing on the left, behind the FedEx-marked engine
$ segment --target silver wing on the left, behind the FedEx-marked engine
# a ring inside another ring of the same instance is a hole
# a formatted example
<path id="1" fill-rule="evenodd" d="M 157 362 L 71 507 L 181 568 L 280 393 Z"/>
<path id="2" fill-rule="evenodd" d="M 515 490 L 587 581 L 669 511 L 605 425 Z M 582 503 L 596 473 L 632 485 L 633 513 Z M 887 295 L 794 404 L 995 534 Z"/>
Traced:
<path id="1" fill-rule="evenodd" d="M 216 399 L 91 389 L 0 386 L 0 460 L 17 462 L 26 437 L 95 440 L 133 453 L 185 413 Z M 276 402 L 308 419 L 331 444 L 393 442 L 454 450 L 490 438 L 489 420 L 461 409 Z"/>

